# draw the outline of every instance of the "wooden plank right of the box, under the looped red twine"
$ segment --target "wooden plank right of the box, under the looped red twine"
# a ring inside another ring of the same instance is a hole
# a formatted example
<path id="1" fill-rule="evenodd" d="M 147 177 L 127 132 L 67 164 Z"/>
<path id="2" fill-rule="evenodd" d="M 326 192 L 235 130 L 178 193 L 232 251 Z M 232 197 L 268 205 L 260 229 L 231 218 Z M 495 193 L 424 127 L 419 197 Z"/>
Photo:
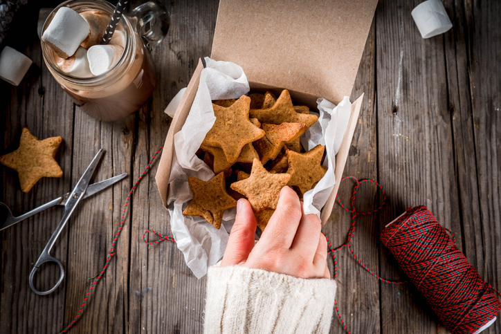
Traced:
<path id="1" fill-rule="evenodd" d="M 354 84 L 351 100 L 354 101 L 365 93 L 363 107 L 355 129 L 352 147 L 345 167 L 345 175 L 356 178 L 377 178 L 376 163 L 376 21 L 372 22 L 365 44 L 361 64 Z M 340 198 L 349 206 L 354 183 L 345 180 L 340 186 Z M 375 209 L 376 189 L 362 185 L 357 193 L 357 210 L 361 212 Z M 345 212 L 337 203 L 334 205 L 331 219 L 324 231 L 334 245 L 345 242 L 347 232 L 352 225 L 352 214 Z M 353 240 L 354 251 L 368 268 L 379 268 L 379 225 L 376 216 L 361 216 Z M 340 315 L 351 333 L 379 333 L 379 282 L 356 263 L 349 250 L 337 252 L 338 290 L 337 301 Z M 331 275 L 334 276 L 334 263 L 329 260 Z M 341 333 L 343 327 L 333 313 L 331 333 Z"/>

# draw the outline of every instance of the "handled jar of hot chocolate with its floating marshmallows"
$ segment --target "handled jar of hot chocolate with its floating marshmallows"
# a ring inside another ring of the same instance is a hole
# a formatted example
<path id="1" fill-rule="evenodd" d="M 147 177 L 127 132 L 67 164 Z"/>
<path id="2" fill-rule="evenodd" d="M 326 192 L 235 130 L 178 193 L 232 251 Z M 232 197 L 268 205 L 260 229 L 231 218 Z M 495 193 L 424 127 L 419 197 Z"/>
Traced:
<path id="1" fill-rule="evenodd" d="M 152 94 L 156 78 L 149 49 L 169 26 L 165 7 L 149 1 L 130 16 L 121 15 L 103 43 L 114 9 L 102 0 L 66 1 L 51 12 L 42 30 L 44 62 L 57 83 L 82 111 L 104 121 L 134 113 Z"/>

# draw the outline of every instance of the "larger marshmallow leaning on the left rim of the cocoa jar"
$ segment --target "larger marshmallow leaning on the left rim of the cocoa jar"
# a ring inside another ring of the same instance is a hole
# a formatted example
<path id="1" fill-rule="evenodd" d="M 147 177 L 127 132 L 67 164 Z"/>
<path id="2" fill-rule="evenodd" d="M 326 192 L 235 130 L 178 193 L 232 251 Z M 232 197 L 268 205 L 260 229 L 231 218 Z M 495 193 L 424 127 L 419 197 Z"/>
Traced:
<path id="1" fill-rule="evenodd" d="M 44 31 L 42 41 L 51 46 L 58 56 L 68 58 L 88 35 L 89 24 L 84 18 L 71 8 L 61 7 Z"/>

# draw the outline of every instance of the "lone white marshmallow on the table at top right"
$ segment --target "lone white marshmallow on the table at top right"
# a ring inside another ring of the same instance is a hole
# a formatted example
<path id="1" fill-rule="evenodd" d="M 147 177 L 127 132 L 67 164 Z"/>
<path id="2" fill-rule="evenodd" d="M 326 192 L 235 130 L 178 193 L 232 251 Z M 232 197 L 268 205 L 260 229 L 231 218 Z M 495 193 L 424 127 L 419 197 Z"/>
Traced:
<path id="1" fill-rule="evenodd" d="M 437 36 L 453 28 L 441 0 L 424 1 L 410 14 L 423 38 Z"/>

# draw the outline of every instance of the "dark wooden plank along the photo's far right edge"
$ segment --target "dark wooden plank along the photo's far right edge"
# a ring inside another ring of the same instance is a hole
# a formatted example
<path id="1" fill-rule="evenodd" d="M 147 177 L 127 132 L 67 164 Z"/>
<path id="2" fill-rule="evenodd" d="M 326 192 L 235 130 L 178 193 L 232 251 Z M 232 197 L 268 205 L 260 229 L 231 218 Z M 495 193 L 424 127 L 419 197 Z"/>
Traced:
<path id="1" fill-rule="evenodd" d="M 477 270 L 485 281 L 501 288 L 501 3 L 465 1 L 471 108 L 475 133 L 481 221 L 477 231 L 483 247 L 473 248 L 482 258 Z M 473 153 L 473 152 L 472 152 Z M 479 226 L 480 225 L 480 226 Z M 486 333 L 501 333 L 495 322 Z"/>

